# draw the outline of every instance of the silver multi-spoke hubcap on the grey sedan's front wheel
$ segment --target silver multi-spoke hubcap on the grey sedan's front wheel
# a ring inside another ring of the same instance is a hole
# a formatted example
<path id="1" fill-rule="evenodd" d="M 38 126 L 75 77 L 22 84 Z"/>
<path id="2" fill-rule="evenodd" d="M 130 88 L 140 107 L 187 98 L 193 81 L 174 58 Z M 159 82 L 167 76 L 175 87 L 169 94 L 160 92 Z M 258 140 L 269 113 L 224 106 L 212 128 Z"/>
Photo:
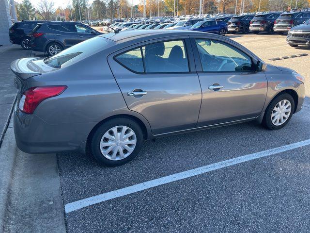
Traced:
<path id="1" fill-rule="evenodd" d="M 289 100 L 281 100 L 273 108 L 271 113 L 271 122 L 276 125 L 282 125 L 289 118 L 292 111 L 292 104 Z"/>

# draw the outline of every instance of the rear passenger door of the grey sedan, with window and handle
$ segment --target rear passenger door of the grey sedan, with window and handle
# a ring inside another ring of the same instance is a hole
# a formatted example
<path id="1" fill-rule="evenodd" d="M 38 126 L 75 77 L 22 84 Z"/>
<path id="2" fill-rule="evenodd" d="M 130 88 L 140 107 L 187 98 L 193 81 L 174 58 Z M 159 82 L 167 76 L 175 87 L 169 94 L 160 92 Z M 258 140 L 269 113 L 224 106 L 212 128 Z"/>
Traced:
<path id="1" fill-rule="evenodd" d="M 153 134 L 194 128 L 202 100 L 188 36 L 141 43 L 108 57 L 128 108 Z"/>

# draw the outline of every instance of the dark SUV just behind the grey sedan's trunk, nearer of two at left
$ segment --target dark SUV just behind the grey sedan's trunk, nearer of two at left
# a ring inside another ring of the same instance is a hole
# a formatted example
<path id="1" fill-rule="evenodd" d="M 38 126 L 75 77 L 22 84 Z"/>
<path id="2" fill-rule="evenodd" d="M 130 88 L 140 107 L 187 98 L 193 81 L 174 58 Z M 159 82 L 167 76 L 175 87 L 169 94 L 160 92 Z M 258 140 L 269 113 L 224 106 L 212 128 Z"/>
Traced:
<path id="1" fill-rule="evenodd" d="M 52 56 L 99 34 L 102 33 L 77 22 L 38 23 L 31 32 L 31 49 Z"/>

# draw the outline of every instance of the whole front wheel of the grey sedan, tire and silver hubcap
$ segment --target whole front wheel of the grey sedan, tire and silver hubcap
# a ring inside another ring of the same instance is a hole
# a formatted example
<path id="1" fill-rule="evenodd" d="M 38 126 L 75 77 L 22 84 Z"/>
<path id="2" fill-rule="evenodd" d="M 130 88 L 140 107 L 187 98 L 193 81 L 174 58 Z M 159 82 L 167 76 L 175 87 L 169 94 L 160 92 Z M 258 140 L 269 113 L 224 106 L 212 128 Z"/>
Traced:
<path id="1" fill-rule="evenodd" d="M 294 99 L 290 94 L 284 93 L 272 100 L 266 109 L 263 125 L 269 130 L 283 128 L 291 119 L 294 112 Z"/>

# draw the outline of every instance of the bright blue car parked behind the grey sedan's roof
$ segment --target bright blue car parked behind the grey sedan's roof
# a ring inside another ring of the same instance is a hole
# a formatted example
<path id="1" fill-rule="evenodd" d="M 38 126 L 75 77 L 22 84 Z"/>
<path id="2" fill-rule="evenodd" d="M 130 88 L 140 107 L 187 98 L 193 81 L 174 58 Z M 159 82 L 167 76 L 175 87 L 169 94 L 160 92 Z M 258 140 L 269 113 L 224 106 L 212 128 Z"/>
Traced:
<path id="1" fill-rule="evenodd" d="M 187 30 L 199 31 L 204 33 L 215 33 L 222 36 L 225 36 L 228 31 L 227 23 L 221 20 L 203 20 L 195 23 Z"/>

